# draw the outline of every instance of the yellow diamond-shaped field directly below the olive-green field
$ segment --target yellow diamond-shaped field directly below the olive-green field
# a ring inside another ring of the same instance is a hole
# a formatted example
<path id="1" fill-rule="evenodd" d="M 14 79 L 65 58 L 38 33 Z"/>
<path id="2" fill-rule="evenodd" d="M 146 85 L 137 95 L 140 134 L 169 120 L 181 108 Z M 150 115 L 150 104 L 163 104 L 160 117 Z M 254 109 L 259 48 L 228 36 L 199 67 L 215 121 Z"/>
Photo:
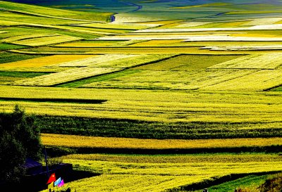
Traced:
<path id="1" fill-rule="evenodd" d="M 231 79 L 243 77 L 257 70 L 143 70 L 133 75 L 118 77 L 104 82 L 85 84 L 83 87 L 119 89 L 200 89 Z"/>

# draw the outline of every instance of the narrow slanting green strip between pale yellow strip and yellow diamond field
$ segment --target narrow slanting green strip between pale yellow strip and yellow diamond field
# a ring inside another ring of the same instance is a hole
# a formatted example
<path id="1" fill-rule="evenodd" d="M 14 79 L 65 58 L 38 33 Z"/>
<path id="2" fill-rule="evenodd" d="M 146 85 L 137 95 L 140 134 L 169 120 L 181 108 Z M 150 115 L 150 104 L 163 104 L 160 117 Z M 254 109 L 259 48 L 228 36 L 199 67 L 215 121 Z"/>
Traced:
<path id="1" fill-rule="evenodd" d="M 114 72 L 108 75 L 101 75 L 98 77 L 90 77 L 87 79 L 83 79 L 83 80 L 79 80 L 79 81 L 75 81 L 75 82 L 71 82 L 71 83 L 66 83 L 66 84 L 60 84 L 56 87 L 70 87 L 70 88 L 74 88 L 74 87 L 81 87 L 85 84 L 90 84 L 93 82 L 103 82 L 109 79 L 114 79 L 116 77 L 122 77 L 125 75 L 131 75 L 134 74 L 136 72 L 140 72 L 140 70 L 123 70 L 120 72 Z"/>

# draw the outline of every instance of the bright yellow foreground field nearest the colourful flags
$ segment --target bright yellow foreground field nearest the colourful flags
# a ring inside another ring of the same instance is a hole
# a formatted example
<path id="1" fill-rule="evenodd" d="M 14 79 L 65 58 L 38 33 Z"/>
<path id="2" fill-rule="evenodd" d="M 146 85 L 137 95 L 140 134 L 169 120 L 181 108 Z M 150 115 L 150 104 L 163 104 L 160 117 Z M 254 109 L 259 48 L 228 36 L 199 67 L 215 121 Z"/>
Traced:
<path id="1" fill-rule="evenodd" d="M 96 157 L 99 155 L 96 155 Z M 87 191 L 164 191 L 165 190 L 189 190 L 191 184 L 201 184 L 221 177 L 230 177 L 230 174 L 255 174 L 258 172 L 270 172 L 281 170 L 274 155 L 180 155 L 176 158 L 178 162 L 157 162 L 159 156 L 149 157 L 137 156 L 135 160 L 122 162 L 116 158 L 94 160 L 95 155 L 69 155 L 63 157 L 63 162 L 77 165 L 76 169 L 90 170 L 100 173 L 98 177 L 81 179 L 68 184 L 73 190 L 83 188 Z M 259 157 L 269 160 L 261 162 Z M 112 157 L 112 156 L 111 156 Z M 145 162 L 142 162 L 144 158 Z M 164 156 L 166 158 L 166 156 Z M 189 162 L 183 162 L 182 158 L 191 158 Z M 211 158 L 216 159 L 213 162 Z M 228 158 L 228 160 L 226 160 Z M 154 162 L 153 162 L 154 160 Z M 271 166 L 276 165 L 276 166 Z M 135 179 L 134 179 L 135 178 Z M 130 181 L 130 185 L 128 185 Z M 137 190 L 140 189 L 140 190 Z"/>

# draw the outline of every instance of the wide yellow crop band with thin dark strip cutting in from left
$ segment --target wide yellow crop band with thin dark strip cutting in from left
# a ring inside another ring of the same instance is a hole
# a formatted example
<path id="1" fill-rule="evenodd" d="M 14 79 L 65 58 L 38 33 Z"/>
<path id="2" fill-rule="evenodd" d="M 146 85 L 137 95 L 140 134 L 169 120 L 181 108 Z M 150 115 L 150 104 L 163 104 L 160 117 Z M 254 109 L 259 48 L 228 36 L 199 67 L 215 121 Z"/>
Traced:
<path id="1" fill-rule="evenodd" d="M 104 117 L 157 122 L 281 122 L 281 94 L 277 91 L 266 93 L 244 92 L 242 94 L 213 91 L 212 93 L 210 94 L 209 91 L 39 89 L 38 87 L 1 86 L 0 96 L 15 98 L 94 98 L 108 101 L 102 105 L 18 103 L 23 105 L 29 113 L 36 112 L 46 115 Z M 1 109 L 10 111 L 14 104 L 15 102 L 3 102 Z"/>

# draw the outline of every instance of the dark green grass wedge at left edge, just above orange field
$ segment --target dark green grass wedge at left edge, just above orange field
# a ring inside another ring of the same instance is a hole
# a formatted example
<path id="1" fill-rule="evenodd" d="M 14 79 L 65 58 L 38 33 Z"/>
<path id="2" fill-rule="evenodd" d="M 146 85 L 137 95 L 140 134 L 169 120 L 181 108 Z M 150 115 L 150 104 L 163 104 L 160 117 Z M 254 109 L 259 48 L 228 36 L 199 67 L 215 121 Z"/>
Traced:
<path id="1" fill-rule="evenodd" d="M 19 53 L 8 53 L 8 52 L 1 52 L 0 53 L 0 67 L 1 63 L 10 63 L 18 60 L 26 60 L 30 58 L 38 58 L 42 57 L 43 55 L 25 55 Z"/>

